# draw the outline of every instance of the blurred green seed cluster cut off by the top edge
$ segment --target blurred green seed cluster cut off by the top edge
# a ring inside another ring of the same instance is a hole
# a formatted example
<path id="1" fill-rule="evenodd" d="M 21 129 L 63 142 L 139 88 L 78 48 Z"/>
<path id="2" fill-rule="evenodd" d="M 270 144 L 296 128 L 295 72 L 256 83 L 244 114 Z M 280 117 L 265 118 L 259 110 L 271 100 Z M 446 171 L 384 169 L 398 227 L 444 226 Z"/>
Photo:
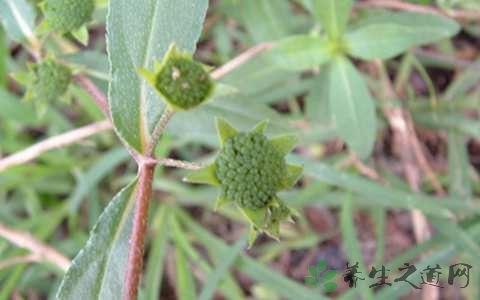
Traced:
<path id="1" fill-rule="evenodd" d="M 45 18 L 53 30 L 70 32 L 92 17 L 94 0 L 45 0 Z"/>

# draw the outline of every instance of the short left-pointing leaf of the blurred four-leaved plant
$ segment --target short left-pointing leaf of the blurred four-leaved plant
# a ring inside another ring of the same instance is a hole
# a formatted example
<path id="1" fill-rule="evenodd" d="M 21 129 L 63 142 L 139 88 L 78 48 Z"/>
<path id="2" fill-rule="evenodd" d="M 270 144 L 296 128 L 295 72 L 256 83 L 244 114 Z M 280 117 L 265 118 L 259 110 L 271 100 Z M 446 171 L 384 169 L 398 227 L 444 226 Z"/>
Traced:
<path id="1" fill-rule="evenodd" d="M 327 39 L 307 35 L 282 39 L 275 43 L 269 54 L 279 67 L 293 71 L 318 67 L 331 57 Z"/>

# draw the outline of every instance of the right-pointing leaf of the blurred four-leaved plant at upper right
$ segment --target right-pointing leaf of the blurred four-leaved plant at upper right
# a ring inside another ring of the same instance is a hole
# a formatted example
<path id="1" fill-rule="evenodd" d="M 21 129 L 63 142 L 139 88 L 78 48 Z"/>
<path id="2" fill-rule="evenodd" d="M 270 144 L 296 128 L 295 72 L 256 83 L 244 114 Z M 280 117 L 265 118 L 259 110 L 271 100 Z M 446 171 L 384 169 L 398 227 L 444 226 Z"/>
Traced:
<path id="1" fill-rule="evenodd" d="M 399 12 L 373 17 L 367 25 L 346 35 L 351 55 L 362 59 L 388 59 L 409 48 L 454 36 L 459 25 L 433 14 Z"/>

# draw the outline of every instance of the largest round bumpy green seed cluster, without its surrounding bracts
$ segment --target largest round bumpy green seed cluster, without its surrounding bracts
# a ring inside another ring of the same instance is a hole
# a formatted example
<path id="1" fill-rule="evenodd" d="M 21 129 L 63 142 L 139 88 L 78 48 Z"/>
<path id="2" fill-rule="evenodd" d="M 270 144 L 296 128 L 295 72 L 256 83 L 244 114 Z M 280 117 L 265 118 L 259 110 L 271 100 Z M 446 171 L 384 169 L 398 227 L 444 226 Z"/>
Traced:
<path id="1" fill-rule="evenodd" d="M 281 187 L 285 159 L 260 133 L 240 133 L 227 139 L 216 160 L 221 193 L 250 209 L 264 208 Z"/>

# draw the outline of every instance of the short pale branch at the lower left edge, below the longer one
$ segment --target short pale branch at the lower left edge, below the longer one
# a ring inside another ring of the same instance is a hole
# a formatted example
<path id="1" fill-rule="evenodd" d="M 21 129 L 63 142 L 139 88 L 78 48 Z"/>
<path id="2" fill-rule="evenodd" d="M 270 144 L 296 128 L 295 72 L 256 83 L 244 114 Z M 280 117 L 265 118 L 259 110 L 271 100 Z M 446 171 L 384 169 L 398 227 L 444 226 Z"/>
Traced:
<path id="1" fill-rule="evenodd" d="M 47 261 L 66 271 L 70 267 L 70 260 L 57 250 L 37 240 L 30 233 L 8 228 L 0 223 L 0 236 L 10 243 L 30 250 L 38 261 Z"/>

